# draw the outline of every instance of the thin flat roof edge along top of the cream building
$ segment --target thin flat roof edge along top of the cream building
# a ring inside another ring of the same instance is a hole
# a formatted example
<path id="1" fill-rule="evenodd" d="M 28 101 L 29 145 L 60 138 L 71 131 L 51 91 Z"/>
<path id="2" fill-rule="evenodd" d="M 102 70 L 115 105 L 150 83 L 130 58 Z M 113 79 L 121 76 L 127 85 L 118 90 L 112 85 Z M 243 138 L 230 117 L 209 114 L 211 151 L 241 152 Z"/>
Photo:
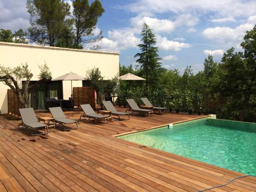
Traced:
<path id="1" fill-rule="evenodd" d="M 27 47 L 27 48 L 39 48 L 39 49 L 63 50 L 63 51 L 77 51 L 77 52 L 87 52 L 87 53 L 103 53 L 103 54 L 114 54 L 114 55 L 120 54 L 118 52 L 110 52 L 110 51 L 96 51 L 96 50 L 88 50 L 88 49 L 70 49 L 70 48 L 61 48 L 61 47 L 31 45 L 31 44 L 16 44 L 14 42 L 1 42 L 0 41 L 0 46 L 1 45 L 15 46 L 15 47 Z"/>

